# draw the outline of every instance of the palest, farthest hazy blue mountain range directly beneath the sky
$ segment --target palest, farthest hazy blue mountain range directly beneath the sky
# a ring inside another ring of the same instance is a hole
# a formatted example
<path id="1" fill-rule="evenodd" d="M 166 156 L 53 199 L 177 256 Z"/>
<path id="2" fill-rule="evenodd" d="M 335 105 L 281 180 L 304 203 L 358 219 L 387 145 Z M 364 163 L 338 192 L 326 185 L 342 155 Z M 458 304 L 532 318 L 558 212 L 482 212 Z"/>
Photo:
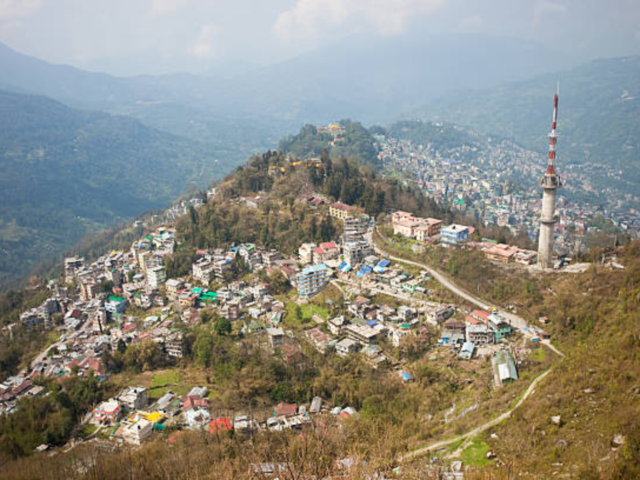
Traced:
<path id="1" fill-rule="evenodd" d="M 447 92 L 528 78 L 560 62 L 558 54 L 538 44 L 487 35 L 355 36 L 231 79 L 118 78 L 53 65 L 0 45 L 0 85 L 133 116 L 158 104 L 180 105 L 200 115 L 275 122 L 295 131 L 304 123 L 340 118 L 384 122 Z"/>

